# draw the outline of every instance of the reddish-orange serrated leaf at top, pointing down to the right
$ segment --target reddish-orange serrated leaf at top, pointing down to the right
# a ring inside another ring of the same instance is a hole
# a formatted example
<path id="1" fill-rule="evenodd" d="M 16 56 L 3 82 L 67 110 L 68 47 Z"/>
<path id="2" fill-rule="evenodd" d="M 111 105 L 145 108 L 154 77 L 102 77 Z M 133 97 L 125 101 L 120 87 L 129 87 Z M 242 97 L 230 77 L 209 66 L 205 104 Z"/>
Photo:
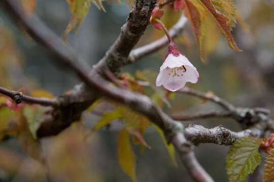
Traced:
<path id="1" fill-rule="evenodd" d="M 200 0 L 217 21 L 221 33 L 226 38 L 231 49 L 242 51 L 231 34 L 236 22 L 236 8 L 232 0 Z"/>

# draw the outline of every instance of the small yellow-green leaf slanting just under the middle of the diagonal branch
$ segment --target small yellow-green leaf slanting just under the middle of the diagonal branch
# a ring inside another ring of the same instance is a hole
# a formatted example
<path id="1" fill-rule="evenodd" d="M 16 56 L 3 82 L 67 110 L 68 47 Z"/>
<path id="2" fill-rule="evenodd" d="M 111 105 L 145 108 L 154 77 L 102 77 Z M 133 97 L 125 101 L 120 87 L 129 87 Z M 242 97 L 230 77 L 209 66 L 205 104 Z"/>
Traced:
<path id="1" fill-rule="evenodd" d="M 93 131 L 97 131 L 100 128 L 108 125 L 110 122 L 112 122 L 115 119 L 122 118 L 123 114 L 121 112 L 121 108 L 117 108 L 114 111 L 106 112 L 102 115 L 102 117 L 97 121 L 95 126 L 92 128 Z"/>

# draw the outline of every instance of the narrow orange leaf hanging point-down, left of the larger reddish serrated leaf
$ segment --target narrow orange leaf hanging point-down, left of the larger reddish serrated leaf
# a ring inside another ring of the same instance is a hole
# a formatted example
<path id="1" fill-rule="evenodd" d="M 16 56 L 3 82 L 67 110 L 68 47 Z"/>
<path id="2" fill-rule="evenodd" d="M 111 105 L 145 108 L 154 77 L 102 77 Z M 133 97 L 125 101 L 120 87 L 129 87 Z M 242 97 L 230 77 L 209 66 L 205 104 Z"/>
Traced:
<path id="1" fill-rule="evenodd" d="M 207 11 L 198 0 L 185 0 L 186 16 L 191 22 L 192 28 L 195 32 L 200 59 L 202 58 L 202 37 L 204 36 L 204 19 L 207 16 Z"/>

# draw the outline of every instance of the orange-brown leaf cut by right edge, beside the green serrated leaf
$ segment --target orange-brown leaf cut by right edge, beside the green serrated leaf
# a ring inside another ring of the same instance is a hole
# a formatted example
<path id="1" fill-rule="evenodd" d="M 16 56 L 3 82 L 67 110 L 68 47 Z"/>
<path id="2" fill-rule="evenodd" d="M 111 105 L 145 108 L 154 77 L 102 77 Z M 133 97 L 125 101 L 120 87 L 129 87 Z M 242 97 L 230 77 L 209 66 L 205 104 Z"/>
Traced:
<path id="1" fill-rule="evenodd" d="M 264 171 L 263 171 L 263 181 L 273 182 L 274 181 L 274 149 L 268 152 L 265 158 Z"/>

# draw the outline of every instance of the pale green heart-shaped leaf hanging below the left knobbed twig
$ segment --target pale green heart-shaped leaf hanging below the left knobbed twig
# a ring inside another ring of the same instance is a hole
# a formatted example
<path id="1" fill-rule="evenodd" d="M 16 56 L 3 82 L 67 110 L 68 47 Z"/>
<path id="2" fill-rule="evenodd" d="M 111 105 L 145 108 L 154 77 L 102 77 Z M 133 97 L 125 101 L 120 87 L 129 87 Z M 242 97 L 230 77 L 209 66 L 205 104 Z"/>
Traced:
<path id="1" fill-rule="evenodd" d="M 28 123 L 29 131 L 31 132 L 33 139 L 37 139 L 36 132 L 40 127 L 44 119 L 44 109 L 42 106 L 32 107 L 26 105 L 23 109 L 23 115 Z"/>

